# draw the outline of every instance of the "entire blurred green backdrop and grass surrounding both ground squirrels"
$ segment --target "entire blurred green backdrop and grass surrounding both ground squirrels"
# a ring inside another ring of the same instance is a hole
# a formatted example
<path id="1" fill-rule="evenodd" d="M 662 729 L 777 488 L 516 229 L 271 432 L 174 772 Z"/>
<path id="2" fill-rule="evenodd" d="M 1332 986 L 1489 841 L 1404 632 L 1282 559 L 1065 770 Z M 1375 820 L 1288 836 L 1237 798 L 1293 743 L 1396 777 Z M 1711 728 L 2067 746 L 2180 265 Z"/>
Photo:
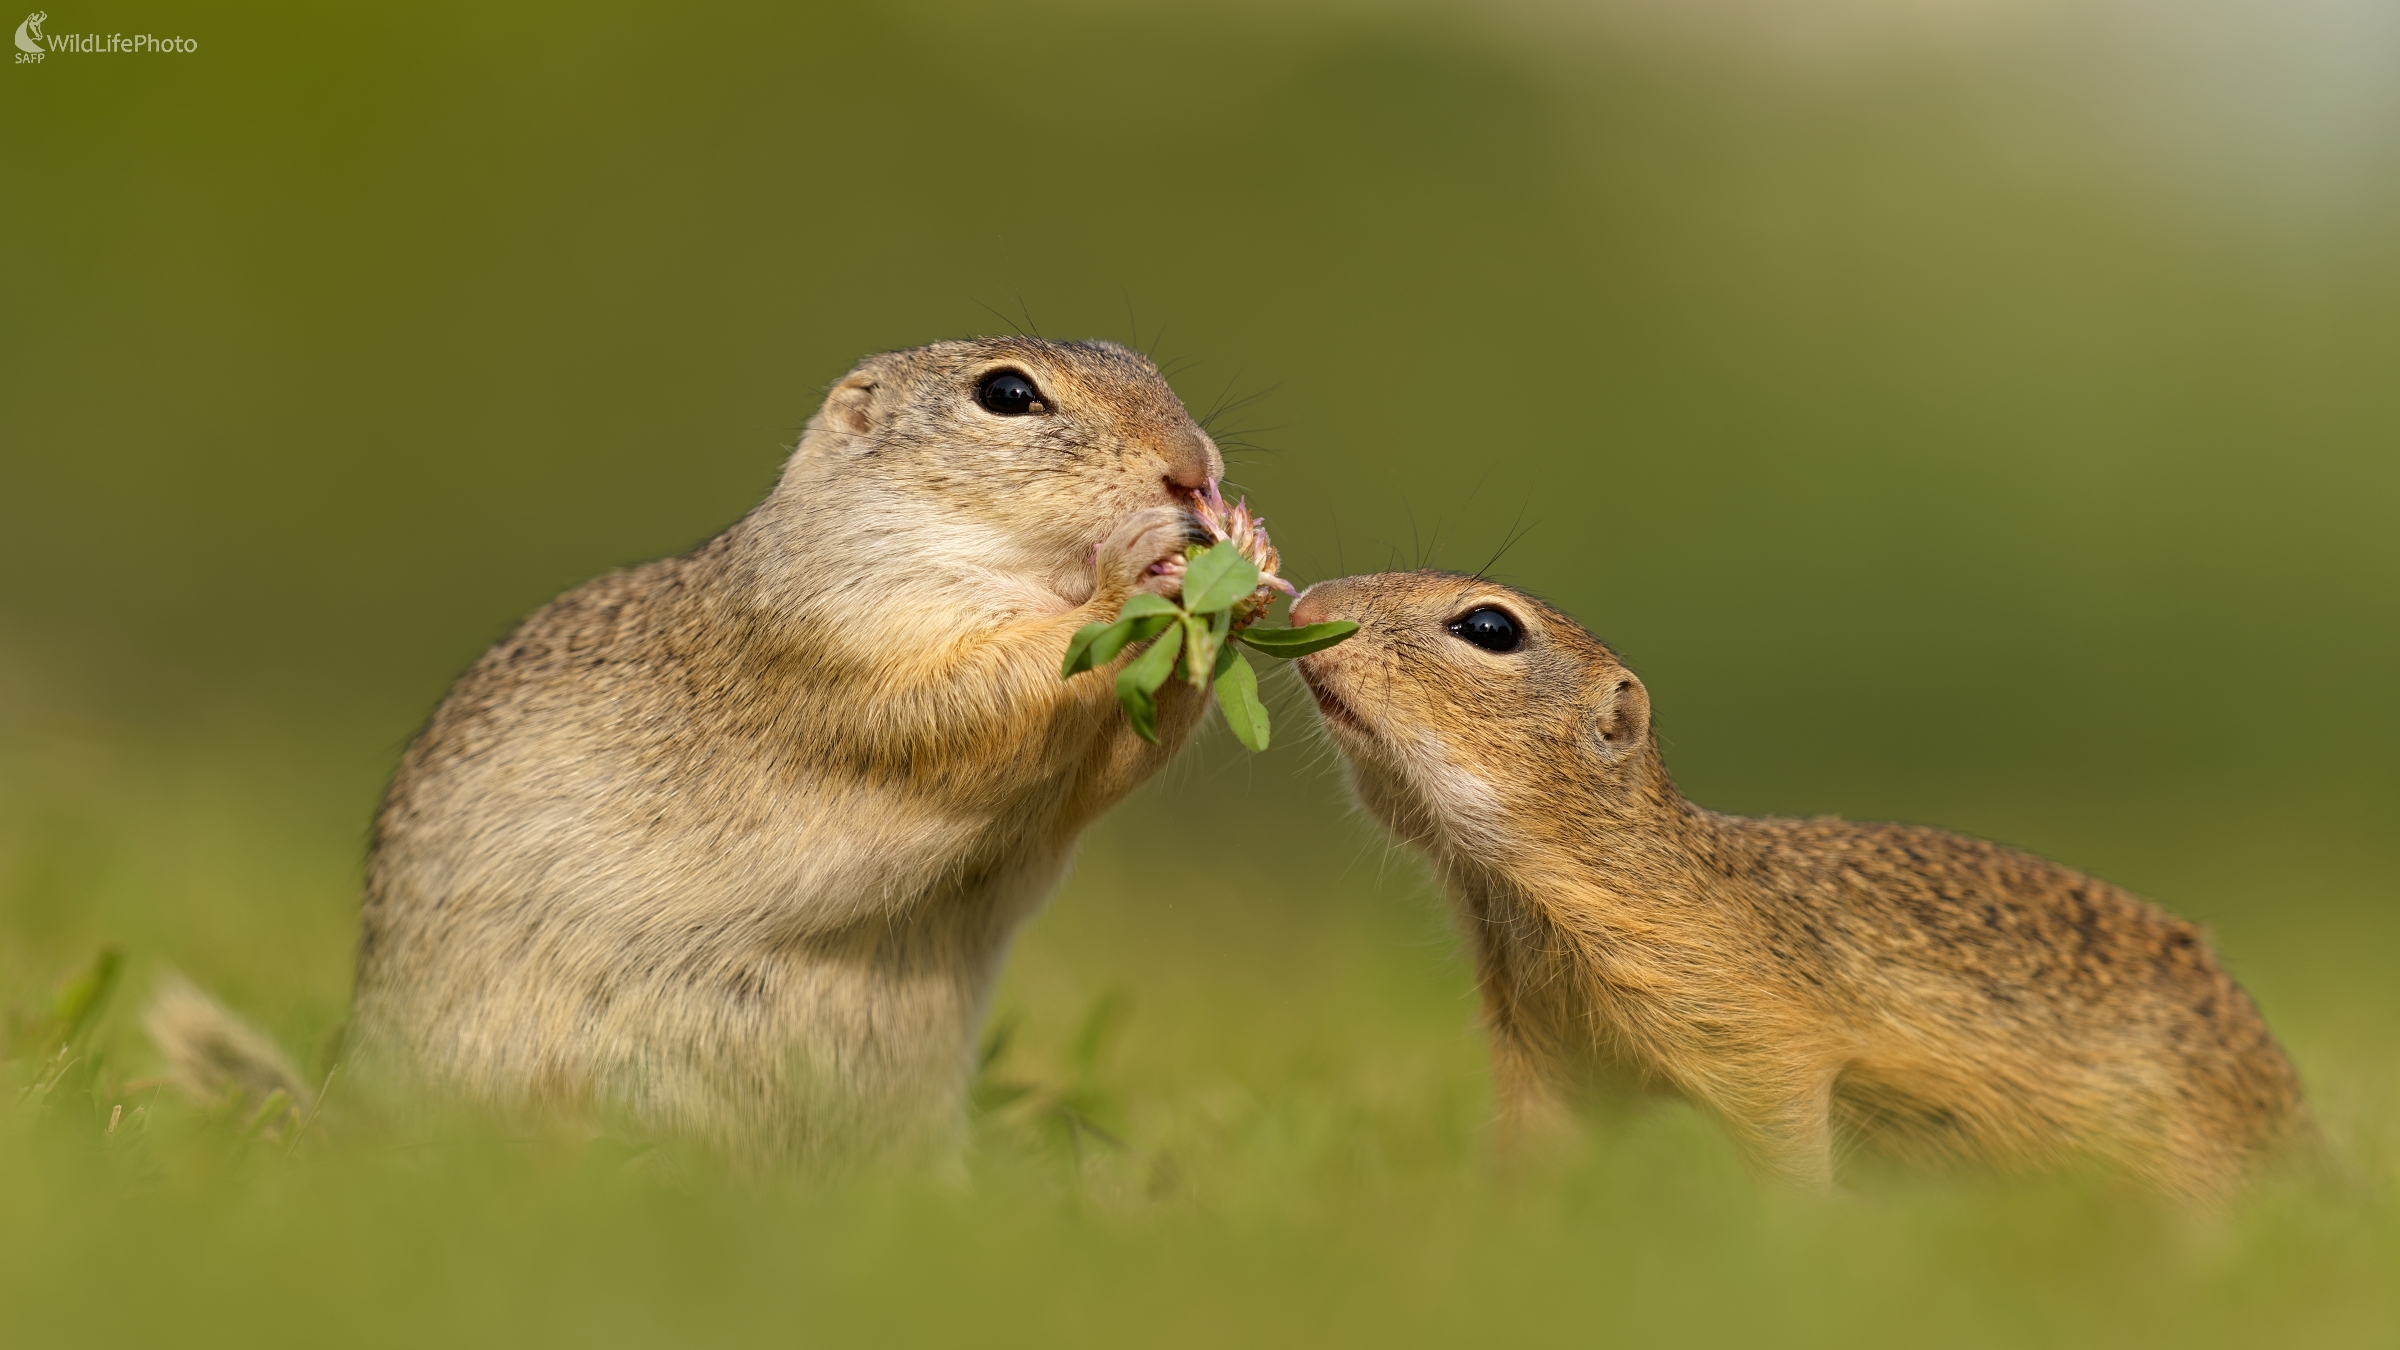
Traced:
<path id="1" fill-rule="evenodd" d="M 199 50 L 0 77 L 0 1002 L 130 958 L 77 1093 L 12 1067 L 24 1343 L 2400 1338 L 2390 7 L 48 31 Z M 127 1086 L 163 963 L 326 1043 L 367 817 L 485 644 L 749 509 L 857 356 L 1006 327 L 1154 344 L 1303 579 L 1522 533 L 1495 574 L 1632 661 L 1706 805 L 1966 829 L 2208 922 L 2350 1177 L 1800 1201 L 1658 1107 L 1505 1184 L 1440 901 L 1289 687 L 1270 754 L 1214 728 L 1027 930 L 991 1081 L 1030 1091 L 965 1191 L 283 1153 Z"/>

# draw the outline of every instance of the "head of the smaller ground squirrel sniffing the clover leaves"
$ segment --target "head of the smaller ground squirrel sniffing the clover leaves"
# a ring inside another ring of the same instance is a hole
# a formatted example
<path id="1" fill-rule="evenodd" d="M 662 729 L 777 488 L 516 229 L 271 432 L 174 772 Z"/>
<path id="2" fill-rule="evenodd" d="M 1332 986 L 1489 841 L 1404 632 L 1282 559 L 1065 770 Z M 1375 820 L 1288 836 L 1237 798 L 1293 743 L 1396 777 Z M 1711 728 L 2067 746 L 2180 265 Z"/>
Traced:
<path id="1" fill-rule="evenodd" d="M 1560 610 L 1454 572 L 1320 581 L 1294 625 L 1358 634 L 1301 680 L 1361 802 L 1411 843 L 1476 850 L 1526 819 L 1625 819 L 1666 783 L 1649 692 Z"/>

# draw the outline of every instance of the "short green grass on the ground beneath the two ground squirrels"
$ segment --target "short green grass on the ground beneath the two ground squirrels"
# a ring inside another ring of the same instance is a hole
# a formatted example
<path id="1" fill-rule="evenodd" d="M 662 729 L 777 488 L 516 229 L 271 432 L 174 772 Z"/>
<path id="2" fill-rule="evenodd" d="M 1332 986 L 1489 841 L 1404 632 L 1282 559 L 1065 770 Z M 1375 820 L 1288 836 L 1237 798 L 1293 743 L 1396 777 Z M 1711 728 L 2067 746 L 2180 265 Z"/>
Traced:
<path id="1" fill-rule="evenodd" d="M 163 958 L 288 1045 L 326 1040 L 353 862 L 293 838 L 314 814 L 293 783 L 91 745 L 48 747 L 36 776 L 12 749 L 10 783 L 55 785 L 65 759 L 86 773 L 41 824 L 24 798 L 0 817 L 12 930 L 41 922 L 36 886 L 58 906 L 38 944 L 7 949 L 19 1023 L 79 987 L 38 961 L 103 932 L 130 946 L 62 1074 L 48 1040 L 19 1038 L 31 1055 L 10 1064 L 0 1304 L 26 1343 L 2388 1345 L 2400 1328 L 2388 932 L 2234 946 L 2350 1175 L 2225 1215 L 2105 1179 L 1870 1170 L 1834 1199 L 1762 1191 L 1678 1105 L 1505 1179 L 1471 990 L 1411 865 L 1334 819 L 1296 850 L 1291 894 L 1140 877 L 1157 831 L 1241 798 L 1229 776 L 1250 766 L 1219 737 L 1097 834 L 1020 944 L 962 1184 L 756 1179 L 607 1134 L 401 1139 L 346 1115 L 338 1076 L 298 1141 L 142 1086 L 132 1014 Z M 2242 884 L 2232 850 L 2208 865 Z M 194 910 L 214 942 L 185 930 Z M 2345 966 L 2364 939 L 2381 951 Z"/>

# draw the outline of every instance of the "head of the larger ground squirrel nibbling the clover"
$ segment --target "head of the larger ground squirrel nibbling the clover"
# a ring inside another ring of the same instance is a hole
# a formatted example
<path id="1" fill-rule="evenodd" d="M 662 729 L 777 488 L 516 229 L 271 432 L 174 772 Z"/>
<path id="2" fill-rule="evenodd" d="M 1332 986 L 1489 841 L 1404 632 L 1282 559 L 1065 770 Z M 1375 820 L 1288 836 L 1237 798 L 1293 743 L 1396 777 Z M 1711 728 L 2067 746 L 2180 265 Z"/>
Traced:
<path id="1" fill-rule="evenodd" d="M 1003 336 L 862 360 L 809 420 L 785 485 L 1080 603 L 1118 521 L 1188 504 L 1222 473 L 1142 353 Z"/>

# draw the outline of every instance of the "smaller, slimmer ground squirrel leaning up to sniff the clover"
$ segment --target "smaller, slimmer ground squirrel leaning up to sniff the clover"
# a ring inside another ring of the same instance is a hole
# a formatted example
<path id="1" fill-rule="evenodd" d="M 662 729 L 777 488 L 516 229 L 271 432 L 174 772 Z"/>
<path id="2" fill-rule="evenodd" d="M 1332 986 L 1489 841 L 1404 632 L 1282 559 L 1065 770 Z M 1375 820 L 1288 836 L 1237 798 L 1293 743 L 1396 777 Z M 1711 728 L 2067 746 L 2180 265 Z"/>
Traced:
<path id="1" fill-rule="evenodd" d="M 2311 1136 L 2299 1081 L 2201 932 L 2107 882 L 1903 824 L 1687 802 L 1649 694 L 1572 617 L 1474 577 L 1308 589 L 1291 622 L 1351 785 L 1421 848 L 1483 990 L 1502 1122 L 1680 1093 L 1764 1170 L 2098 1160 L 2227 1194 Z"/>

